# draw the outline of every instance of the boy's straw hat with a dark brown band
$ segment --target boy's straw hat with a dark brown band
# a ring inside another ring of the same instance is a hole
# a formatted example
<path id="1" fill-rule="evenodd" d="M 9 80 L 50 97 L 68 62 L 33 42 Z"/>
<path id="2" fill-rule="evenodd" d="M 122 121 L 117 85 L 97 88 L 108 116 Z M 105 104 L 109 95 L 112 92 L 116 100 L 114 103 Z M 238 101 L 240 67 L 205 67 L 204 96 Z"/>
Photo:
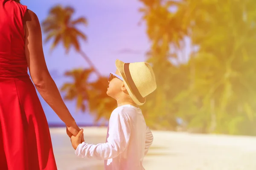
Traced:
<path id="1" fill-rule="evenodd" d="M 122 75 L 131 99 L 137 105 L 143 105 L 145 96 L 157 88 L 152 67 L 147 62 L 125 63 L 116 59 L 116 68 Z"/>

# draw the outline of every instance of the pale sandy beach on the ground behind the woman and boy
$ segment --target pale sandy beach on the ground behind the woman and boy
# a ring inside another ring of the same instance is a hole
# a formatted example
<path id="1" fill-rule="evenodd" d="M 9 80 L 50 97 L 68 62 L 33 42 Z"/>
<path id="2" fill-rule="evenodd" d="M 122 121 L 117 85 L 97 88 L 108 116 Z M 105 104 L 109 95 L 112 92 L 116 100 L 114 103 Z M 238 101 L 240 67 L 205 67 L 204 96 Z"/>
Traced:
<path id="1" fill-rule="evenodd" d="M 78 158 L 65 128 L 50 128 L 58 170 L 103 170 L 103 161 Z M 87 143 L 105 142 L 107 128 L 84 127 Z M 256 170 L 256 137 L 153 131 L 145 170 Z"/>

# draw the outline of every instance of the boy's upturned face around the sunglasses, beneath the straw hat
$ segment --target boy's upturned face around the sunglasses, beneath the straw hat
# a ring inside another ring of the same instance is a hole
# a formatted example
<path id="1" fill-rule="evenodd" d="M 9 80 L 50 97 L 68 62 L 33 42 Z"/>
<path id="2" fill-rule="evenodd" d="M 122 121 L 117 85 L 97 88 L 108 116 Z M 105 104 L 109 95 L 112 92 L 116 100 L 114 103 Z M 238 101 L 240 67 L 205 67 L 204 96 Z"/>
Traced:
<path id="1" fill-rule="evenodd" d="M 115 73 L 121 77 L 121 73 L 117 69 Z M 122 86 L 123 86 L 122 80 L 116 77 L 113 78 L 108 84 L 108 90 L 107 90 L 108 96 L 111 96 L 112 98 L 116 99 L 117 96 L 119 96 L 119 94 L 122 92 Z"/>

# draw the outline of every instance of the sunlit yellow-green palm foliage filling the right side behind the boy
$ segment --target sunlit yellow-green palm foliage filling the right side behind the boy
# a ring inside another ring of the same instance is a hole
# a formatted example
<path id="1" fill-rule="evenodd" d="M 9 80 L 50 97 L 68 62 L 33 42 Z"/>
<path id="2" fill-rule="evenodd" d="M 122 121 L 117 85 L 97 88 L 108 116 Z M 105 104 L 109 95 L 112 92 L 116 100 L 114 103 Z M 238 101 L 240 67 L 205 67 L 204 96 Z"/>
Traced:
<path id="1" fill-rule="evenodd" d="M 173 115 L 167 122 L 178 116 L 204 132 L 256 135 L 256 2 L 140 1 L 152 41 L 148 62 L 158 78 L 146 114 Z M 185 37 L 199 48 L 188 63 L 172 65 Z"/>

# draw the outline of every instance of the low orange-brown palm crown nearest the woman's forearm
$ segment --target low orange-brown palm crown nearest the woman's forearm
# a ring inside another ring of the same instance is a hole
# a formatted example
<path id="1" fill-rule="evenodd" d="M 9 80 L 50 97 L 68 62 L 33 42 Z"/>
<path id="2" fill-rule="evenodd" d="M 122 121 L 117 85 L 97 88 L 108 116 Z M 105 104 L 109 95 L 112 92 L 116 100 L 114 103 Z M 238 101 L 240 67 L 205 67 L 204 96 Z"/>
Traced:
<path id="1" fill-rule="evenodd" d="M 87 81 L 91 72 L 91 69 L 75 69 L 65 72 L 65 76 L 71 77 L 73 79 L 73 82 L 66 82 L 61 87 L 61 91 L 66 91 L 64 99 L 77 99 L 77 111 L 81 108 L 81 111 L 84 112 L 86 109 L 86 104 L 84 103 L 84 101 L 87 101 L 90 98 L 89 91 L 91 89 Z"/>

